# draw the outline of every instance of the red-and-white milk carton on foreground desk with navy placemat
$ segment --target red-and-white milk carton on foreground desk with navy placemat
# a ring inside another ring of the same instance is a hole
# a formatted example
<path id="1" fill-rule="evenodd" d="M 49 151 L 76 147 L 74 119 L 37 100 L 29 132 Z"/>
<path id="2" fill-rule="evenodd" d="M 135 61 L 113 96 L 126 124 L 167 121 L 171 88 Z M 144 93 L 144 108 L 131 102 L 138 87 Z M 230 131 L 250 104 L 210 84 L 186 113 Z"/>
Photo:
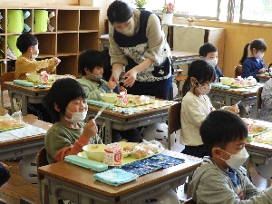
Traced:
<path id="1" fill-rule="evenodd" d="M 104 150 L 103 163 L 109 166 L 120 166 L 122 161 L 122 150 L 116 144 L 112 144 L 110 148 Z"/>

